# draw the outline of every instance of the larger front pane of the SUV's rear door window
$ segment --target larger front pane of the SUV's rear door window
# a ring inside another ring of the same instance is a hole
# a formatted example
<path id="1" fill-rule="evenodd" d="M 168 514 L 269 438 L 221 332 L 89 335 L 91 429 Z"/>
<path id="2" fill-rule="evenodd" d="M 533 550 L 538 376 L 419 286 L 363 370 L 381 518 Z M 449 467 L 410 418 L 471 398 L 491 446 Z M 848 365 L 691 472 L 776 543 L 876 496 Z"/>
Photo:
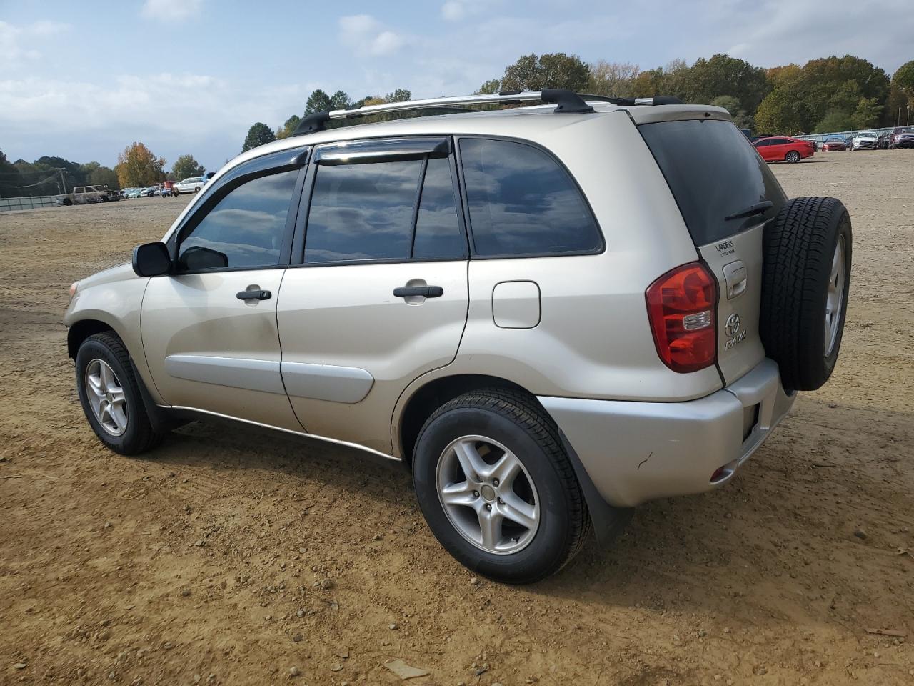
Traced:
<path id="1" fill-rule="evenodd" d="M 409 257 L 421 169 L 421 160 L 318 166 L 305 263 Z"/>

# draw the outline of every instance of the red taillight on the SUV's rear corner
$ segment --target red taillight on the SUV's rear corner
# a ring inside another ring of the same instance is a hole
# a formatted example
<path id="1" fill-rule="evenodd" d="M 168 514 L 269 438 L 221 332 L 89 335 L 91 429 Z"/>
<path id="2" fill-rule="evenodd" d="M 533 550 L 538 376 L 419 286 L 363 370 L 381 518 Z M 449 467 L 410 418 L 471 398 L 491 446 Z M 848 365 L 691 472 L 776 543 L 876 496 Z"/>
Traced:
<path id="1" fill-rule="evenodd" d="M 683 264 L 651 284 L 647 315 L 657 354 L 671 370 L 702 370 L 717 359 L 717 284 L 701 263 Z"/>

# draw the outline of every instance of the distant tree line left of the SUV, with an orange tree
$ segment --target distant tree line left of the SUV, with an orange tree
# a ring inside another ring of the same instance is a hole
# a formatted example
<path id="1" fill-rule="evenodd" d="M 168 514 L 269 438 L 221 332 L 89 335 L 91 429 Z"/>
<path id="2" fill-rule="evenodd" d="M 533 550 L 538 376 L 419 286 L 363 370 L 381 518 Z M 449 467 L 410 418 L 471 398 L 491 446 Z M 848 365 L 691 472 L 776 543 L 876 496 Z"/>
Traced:
<path id="1" fill-rule="evenodd" d="M 57 195 L 76 186 L 138 188 L 162 181 L 180 181 L 206 173 L 194 155 L 180 155 L 171 170 L 164 157 L 157 157 L 142 143 L 127 145 L 112 169 L 98 162 L 72 162 L 63 157 L 42 156 L 34 162 L 10 162 L 0 150 L 0 198 Z"/>

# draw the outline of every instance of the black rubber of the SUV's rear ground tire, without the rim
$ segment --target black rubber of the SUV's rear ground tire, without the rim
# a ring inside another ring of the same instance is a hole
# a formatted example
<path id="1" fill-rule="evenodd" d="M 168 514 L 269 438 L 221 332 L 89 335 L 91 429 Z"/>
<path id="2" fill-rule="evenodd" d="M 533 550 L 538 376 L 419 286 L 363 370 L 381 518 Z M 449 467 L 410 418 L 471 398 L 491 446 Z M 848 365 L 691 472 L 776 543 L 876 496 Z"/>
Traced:
<path id="1" fill-rule="evenodd" d="M 507 447 L 520 458 L 536 488 L 539 523 L 518 552 L 498 554 L 477 547 L 456 529 L 441 505 L 439 461 L 445 448 L 465 435 L 485 436 Z M 590 514 L 558 427 L 520 392 L 484 389 L 443 404 L 420 431 L 412 471 L 420 508 L 441 545 L 464 566 L 495 581 L 529 584 L 558 572 L 590 533 Z"/>

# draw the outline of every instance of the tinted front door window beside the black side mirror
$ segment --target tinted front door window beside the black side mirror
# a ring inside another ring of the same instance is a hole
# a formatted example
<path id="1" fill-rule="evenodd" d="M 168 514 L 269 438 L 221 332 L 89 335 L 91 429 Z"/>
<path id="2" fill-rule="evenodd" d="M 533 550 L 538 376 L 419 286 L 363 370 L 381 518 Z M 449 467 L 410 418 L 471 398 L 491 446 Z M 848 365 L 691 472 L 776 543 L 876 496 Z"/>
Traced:
<path id="1" fill-rule="evenodd" d="M 292 169 L 232 189 L 181 241 L 182 269 L 278 264 L 297 177 Z"/>

